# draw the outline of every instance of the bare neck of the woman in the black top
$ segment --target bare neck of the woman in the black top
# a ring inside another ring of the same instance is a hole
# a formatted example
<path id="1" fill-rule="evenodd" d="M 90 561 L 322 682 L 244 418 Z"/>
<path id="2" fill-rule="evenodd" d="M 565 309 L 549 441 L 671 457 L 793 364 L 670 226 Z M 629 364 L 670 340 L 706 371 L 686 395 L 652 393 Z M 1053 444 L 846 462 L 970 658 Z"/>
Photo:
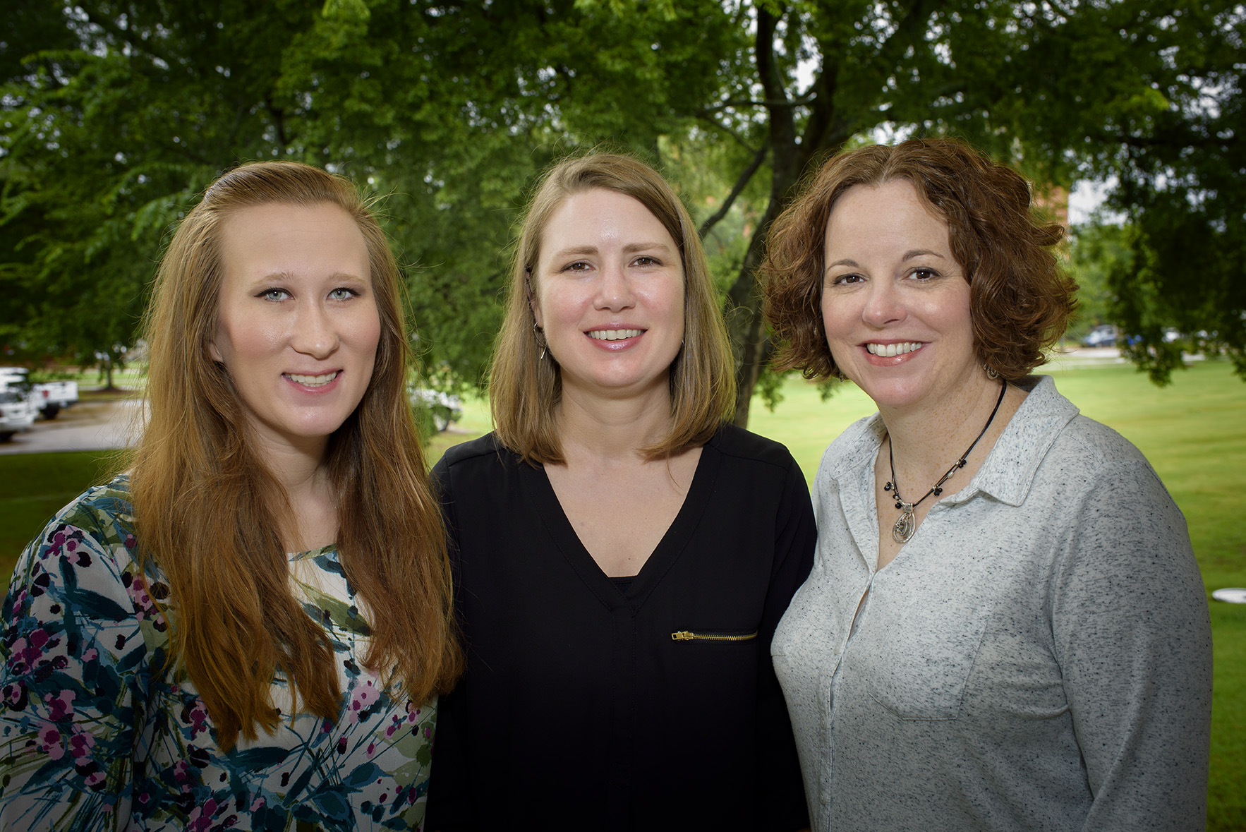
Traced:
<path id="1" fill-rule="evenodd" d="M 557 420 L 563 455 L 574 461 L 644 461 L 642 447 L 670 430 L 670 389 L 667 379 L 649 392 L 607 399 L 563 389 Z"/>

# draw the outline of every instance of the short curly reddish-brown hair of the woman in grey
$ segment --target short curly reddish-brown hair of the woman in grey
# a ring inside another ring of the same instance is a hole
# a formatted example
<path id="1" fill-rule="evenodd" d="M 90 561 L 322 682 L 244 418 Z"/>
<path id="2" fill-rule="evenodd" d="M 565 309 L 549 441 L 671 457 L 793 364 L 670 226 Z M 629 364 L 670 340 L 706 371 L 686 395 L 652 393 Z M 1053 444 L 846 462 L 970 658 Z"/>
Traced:
<path id="1" fill-rule="evenodd" d="M 981 361 L 1009 380 L 1028 375 L 1047 360 L 1044 350 L 1077 308 L 1077 284 L 1053 252 L 1064 229 L 1035 219 L 1029 183 L 1019 173 L 951 138 L 840 153 L 775 220 L 761 265 L 766 319 L 779 345 L 775 369 L 799 369 L 806 379 L 840 376 L 821 311 L 826 224 L 851 188 L 895 179 L 912 182 L 947 223 L 952 254 L 969 283 Z"/>

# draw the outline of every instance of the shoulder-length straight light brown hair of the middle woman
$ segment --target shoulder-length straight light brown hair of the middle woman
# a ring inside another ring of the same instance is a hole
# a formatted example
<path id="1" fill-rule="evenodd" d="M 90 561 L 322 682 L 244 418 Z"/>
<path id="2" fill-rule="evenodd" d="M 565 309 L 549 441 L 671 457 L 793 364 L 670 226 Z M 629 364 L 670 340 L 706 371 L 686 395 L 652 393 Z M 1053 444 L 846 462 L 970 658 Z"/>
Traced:
<path id="1" fill-rule="evenodd" d="M 632 197 L 649 209 L 679 249 L 684 268 L 684 345 L 670 365 L 670 431 L 642 448 L 650 460 L 704 445 L 735 405 L 735 361 L 697 227 L 652 167 L 629 156 L 563 159 L 541 179 L 520 230 L 502 331 L 493 344 L 488 394 L 502 445 L 530 463 L 563 461 L 554 418 L 562 400 L 558 365 L 543 349 L 528 303 L 541 296 L 537 263 L 546 225 L 568 197 L 593 189 Z"/>

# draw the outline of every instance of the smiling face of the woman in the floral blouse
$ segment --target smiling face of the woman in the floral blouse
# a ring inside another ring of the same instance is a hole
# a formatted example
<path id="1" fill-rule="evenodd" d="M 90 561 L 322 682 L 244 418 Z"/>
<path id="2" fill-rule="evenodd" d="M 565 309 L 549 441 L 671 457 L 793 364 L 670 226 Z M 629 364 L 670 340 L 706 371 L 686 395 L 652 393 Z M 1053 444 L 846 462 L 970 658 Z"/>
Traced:
<path id="1" fill-rule="evenodd" d="M 209 355 L 262 446 L 323 451 L 368 389 L 380 339 L 368 245 L 341 208 L 269 203 L 231 213 Z"/>

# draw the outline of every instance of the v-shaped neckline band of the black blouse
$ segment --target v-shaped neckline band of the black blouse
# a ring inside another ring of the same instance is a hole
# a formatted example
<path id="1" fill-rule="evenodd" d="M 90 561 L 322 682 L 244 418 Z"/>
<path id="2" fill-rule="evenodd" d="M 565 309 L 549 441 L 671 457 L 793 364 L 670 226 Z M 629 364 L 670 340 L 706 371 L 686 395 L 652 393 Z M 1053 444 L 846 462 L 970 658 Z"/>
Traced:
<path id="1" fill-rule="evenodd" d="M 571 524 L 567 512 L 563 511 L 562 503 L 558 502 L 558 496 L 554 493 L 553 485 L 549 482 L 549 476 L 545 472 L 545 468 L 525 466 L 528 471 L 532 494 L 536 498 L 537 509 L 546 529 L 558 546 L 562 555 L 567 559 L 567 563 L 579 575 L 584 587 L 607 608 L 614 609 L 621 603 L 625 603 L 633 609 L 639 609 L 653 588 L 679 559 L 680 553 L 683 553 L 693 532 L 700 523 L 705 508 L 709 506 L 710 494 L 714 492 L 714 483 L 718 481 L 723 457 L 718 447 L 715 447 L 716 445 L 718 435 L 715 433 L 701 446 L 700 460 L 697 461 L 697 471 L 693 473 L 693 481 L 688 487 L 688 493 L 684 496 L 683 504 L 627 588 L 618 587 L 606 574 L 597 564 L 597 560 L 593 559 L 588 547 L 576 534 L 576 529 Z"/>

